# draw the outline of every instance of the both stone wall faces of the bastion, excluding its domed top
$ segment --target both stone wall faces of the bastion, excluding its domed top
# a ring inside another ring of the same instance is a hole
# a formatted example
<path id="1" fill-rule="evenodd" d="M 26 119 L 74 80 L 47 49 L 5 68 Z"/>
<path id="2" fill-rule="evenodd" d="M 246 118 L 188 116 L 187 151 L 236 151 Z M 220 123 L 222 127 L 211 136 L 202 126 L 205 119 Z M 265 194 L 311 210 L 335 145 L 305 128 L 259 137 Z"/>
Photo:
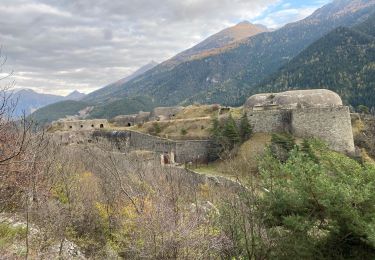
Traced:
<path id="1" fill-rule="evenodd" d="M 338 152 L 354 153 L 349 108 L 309 107 L 247 111 L 254 132 L 291 133 L 301 138 L 318 138 Z"/>

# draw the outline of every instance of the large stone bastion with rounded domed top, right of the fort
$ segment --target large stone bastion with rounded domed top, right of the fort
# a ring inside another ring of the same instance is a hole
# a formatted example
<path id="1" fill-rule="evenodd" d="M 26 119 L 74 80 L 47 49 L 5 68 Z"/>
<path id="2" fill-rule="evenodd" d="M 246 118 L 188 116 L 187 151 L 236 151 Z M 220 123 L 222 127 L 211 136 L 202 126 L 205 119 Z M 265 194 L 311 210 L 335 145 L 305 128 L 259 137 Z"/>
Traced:
<path id="1" fill-rule="evenodd" d="M 246 101 L 244 111 L 254 132 L 288 132 L 321 139 L 339 152 L 355 152 L 349 107 L 330 90 L 257 94 Z"/>

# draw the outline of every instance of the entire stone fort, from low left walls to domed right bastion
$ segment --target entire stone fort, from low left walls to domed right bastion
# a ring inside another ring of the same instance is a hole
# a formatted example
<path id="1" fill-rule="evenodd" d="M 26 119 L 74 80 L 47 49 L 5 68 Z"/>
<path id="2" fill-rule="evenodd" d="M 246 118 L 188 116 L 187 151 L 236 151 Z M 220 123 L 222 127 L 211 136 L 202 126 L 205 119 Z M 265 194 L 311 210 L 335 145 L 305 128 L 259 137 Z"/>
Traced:
<path id="1" fill-rule="evenodd" d="M 147 121 L 171 120 L 183 109 L 155 108 L 152 112 L 120 116 L 112 123 L 117 126 L 132 126 Z M 355 152 L 349 107 L 344 106 L 340 96 L 330 90 L 257 94 L 246 101 L 243 109 L 253 132 L 287 132 L 300 138 L 318 138 L 338 152 Z M 230 108 L 225 111 L 229 112 Z M 219 112 L 218 116 L 227 115 Z M 215 158 L 210 158 L 210 154 L 217 149 L 210 140 L 168 140 L 132 130 L 103 132 L 100 130 L 110 128 L 109 122 L 104 119 L 61 120 L 52 125 L 62 131 L 59 138 L 62 143 L 92 141 L 92 132 L 95 132 L 96 137 L 116 140 L 119 145 L 133 149 L 156 151 L 160 154 L 173 153 L 176 162 L 211 161 Z M 85 132 L 91 134 L 87 135 Z"/>

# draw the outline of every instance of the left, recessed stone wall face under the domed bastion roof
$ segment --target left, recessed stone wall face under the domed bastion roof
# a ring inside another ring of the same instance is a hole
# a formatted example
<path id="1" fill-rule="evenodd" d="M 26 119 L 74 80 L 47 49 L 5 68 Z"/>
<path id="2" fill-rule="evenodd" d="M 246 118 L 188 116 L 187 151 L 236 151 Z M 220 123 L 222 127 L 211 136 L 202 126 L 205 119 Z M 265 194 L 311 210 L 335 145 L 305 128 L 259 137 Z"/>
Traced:
<path id="1" fill-rule="evenodd" d="M 247 116 L 255 133 L 290 131 L 291 113 L 288 110 L 249 110 Z"/>

